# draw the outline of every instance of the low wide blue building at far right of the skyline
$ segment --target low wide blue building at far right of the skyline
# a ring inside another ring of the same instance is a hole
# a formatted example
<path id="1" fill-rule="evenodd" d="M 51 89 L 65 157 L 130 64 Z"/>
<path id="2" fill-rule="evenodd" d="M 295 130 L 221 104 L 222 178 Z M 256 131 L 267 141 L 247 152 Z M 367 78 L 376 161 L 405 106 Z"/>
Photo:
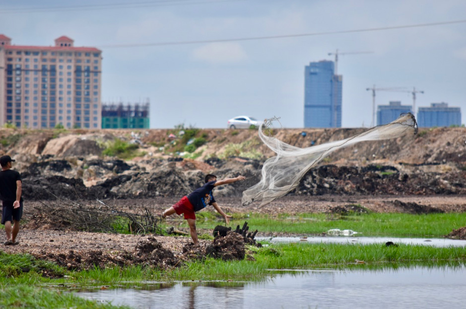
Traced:
<path id="1" fill-rule="evenodd" d="M 461 109 L 448 107 L 445 102 L 430 103 L 430 107 L 419 107 L 417 113 L 419 127 L 449 127 L 461 125 Z"/>

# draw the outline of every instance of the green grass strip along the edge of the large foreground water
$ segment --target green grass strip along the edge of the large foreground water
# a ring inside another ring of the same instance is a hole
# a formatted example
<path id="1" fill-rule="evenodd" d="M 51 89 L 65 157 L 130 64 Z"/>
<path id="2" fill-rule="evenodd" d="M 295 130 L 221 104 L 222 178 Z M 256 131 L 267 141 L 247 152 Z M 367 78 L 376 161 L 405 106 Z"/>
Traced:
<path id="1" fill-rule="evenodd" d="M 433 247 L 399 244 L 286 243 L 248 247 L 241 261 L 212 258 L 186 262 L 182 267 L 162 271 L 158 268 L 112 267 L 74 272 L 53 263 L 36 260 L 30 255 L 0 254 L 0 284 L 36 285 L 41 282 L 117 284 L 143 280 L 262 280 L 269 269 L 344 268 L 353 264 L 385 265 L 387 263 L 456 263 L 466 265 L 466 247 Z M 13 258 L 12 258 L 13 257 Z M 251 258 L 253 257 L 253 258 Z M 18 266 L 17 261 L 22 261 Z M 21 271 L 21 269 L 23 271 Z M 25 271 L 25 269 L 27 271 Z M 44 278 L 44 270 L 52 277 Z"/>

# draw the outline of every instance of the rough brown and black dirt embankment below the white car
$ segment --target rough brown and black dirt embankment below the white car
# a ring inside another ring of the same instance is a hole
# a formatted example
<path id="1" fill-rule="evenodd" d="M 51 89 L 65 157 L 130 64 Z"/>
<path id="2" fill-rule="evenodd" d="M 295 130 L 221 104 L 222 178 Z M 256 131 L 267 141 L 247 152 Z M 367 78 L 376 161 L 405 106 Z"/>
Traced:
<path id="1" fill-rule="evenodd" d="M 209 172 L 219 178 L 248 177 L 216 192 L 239 196 L 259 181 L 263 162 L 273 156 L 255 130 L 190 130 L 1 129 L 0 154 L 17 159 L 14 168 L 22 173 L 28 200 L 180 196 L 201 185 Z M 363 130 L 274 129 L 273 134 L 290 145 L 312 147 Z M 357 144 L 326 157 L 290 194 L 466 194 L 465 133 L 465 128 L 421 128 L 416 136 Z M 137 145 L 138 156 L 123 160 L 102 155 L 115 139 Z M 194 152 L 186 152 L 196 141 Z"/>

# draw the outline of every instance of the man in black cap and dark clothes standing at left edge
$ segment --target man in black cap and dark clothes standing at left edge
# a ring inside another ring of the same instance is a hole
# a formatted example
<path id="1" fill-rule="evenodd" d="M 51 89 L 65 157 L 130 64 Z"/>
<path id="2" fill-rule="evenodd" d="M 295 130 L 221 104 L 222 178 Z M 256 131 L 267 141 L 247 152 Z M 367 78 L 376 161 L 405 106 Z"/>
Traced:
<path id="1" fill-rule="evenodd" d="M 5 245 L 15 245 L 19 241 L 16 235 L 19 232 L 19 221 L 23 215 L 23 199 L 21 198 L 21 176 L 12 170 L 12 162 L 9 155 L 0 157 L 0 197 L 2 201 L 1 224 L 5 226 Z M 13 225 L 11 225 L 13 223 Z"/>

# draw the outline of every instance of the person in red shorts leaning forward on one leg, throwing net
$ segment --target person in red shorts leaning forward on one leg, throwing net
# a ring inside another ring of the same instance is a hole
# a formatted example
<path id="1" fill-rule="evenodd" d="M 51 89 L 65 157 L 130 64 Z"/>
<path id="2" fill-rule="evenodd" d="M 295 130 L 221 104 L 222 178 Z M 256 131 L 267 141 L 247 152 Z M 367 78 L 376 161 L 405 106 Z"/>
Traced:
<path id="1" fill-rule="evenodd" d="M 195 212 L 200 211 L 207 205 L 212 205 L 213 208 L 215 208 L 215 210 L 220 215 L 222 215 L 223 218 L 225 218 L 226 224 L 229 224 L 231 216 L 225 214 L 220 208 L 220 206 L 218 206 L 217 202 L 215 201 L 212 195 L 212 189 L 222 184 L 229 184 L 244 179 L 246 179 L 245 176 L 238 176 L 235 178 L 225 178 L 223 180 L 217 181 L 217 176 L 208 174 L 205 176 L 205 184 L 202 187 L 194 190 L 187 196 L 184 196 L 183 198 L 181 198 L 180 201 L 178 201 L 178 203 L 166 209 L 162 213 L 162 218 L 173 215 L 174 213 L 177 213 L 177 215 L 184 214 L 185 219 L 188 221 L 191 238 L 193 238 L 193 242 L 196 244 L 198 243 L 198 233 L 196 231 Z"/>

